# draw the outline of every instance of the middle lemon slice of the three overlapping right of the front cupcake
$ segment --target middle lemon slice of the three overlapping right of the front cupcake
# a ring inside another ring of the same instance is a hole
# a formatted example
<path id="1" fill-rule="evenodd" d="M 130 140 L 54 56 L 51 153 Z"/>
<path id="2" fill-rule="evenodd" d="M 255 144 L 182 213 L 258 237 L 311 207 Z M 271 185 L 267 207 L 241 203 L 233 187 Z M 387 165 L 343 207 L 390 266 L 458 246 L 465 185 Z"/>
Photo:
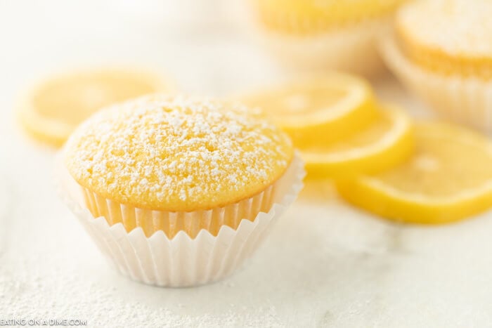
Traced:
<path id="1" fill-rule="evenodd" d="M 370 126 L 336 143 L 301 147 L 311 177 L 346 178 L 389 169 L 413 151 L 413 124 L 408 114 L 386 105 Z"/>

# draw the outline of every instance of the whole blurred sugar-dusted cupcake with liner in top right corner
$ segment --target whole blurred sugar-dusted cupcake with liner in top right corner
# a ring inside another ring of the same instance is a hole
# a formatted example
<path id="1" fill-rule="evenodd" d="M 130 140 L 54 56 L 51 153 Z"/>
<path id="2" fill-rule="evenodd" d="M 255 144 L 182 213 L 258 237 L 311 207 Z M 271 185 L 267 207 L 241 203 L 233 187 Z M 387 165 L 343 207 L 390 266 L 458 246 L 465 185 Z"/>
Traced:
<path id="1" fill-rule="evenodd" d="M 384 59 L 444 117 L 492 131 L 492 2 L 415 1 L 382 42 Z"/>

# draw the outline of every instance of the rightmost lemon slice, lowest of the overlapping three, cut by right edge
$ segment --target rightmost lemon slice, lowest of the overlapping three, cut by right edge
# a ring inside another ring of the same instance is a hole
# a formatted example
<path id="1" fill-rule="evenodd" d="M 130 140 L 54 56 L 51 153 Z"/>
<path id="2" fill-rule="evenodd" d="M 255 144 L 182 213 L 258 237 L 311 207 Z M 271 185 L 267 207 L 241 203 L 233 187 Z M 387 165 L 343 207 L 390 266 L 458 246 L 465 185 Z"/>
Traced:
<path id="1" fill-rule="evenodd" d="M 418 124 L 415 154 L 390 171 L 339 181 L 342 197 L 385 218 L 447 223 L 492 206 L 492 143 L 458 126 Z"/>

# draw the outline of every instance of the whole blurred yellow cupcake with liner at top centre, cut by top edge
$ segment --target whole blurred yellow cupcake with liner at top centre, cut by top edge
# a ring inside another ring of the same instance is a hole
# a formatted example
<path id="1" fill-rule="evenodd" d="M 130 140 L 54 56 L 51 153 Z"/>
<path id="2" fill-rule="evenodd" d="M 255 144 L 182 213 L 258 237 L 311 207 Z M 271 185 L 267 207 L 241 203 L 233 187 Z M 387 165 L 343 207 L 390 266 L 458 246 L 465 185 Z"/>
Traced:
<path id="1" fill-rule="evenodd" d="M 403 0 L 250 0 L 264 44 L 302 69 L 375 74 L 377 37 Z"/>

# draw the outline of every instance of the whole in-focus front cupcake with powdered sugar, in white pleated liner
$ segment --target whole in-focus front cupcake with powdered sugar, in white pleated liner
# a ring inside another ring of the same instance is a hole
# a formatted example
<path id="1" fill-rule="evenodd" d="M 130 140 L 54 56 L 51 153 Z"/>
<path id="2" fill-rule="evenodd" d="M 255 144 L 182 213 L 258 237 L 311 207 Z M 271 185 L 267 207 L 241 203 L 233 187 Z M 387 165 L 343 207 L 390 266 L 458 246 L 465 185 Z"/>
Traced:
<path id="1" fill-rule="evenodd" d="M 231 273 L 304 176 L 290 139 L 258 114 L 159 94 L 87 119 L 63 164 L 65 199 L 117 268 L 176 287 Z"/>

